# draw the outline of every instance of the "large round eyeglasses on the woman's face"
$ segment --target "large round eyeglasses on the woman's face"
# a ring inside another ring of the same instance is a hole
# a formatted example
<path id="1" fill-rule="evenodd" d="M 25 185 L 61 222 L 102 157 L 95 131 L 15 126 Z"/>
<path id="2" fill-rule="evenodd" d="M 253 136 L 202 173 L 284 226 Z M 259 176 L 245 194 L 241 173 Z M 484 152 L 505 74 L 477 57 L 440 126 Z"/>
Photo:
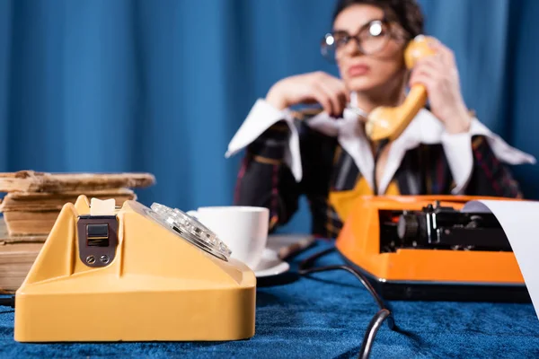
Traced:
<path id="1" fill-rule="evenodd" d="M 321 52 L 323 57 L 334 62 L 342 57 L 349 42 L 355 39 L 359 52 L 373 55 L 383 50 L 392 37 L 389 22 L 385 19 L 373 20 L 363 25 L 357 35 L 350 35 L 346 31 L 333 31 L 326 34 L 322 39 Z"/>

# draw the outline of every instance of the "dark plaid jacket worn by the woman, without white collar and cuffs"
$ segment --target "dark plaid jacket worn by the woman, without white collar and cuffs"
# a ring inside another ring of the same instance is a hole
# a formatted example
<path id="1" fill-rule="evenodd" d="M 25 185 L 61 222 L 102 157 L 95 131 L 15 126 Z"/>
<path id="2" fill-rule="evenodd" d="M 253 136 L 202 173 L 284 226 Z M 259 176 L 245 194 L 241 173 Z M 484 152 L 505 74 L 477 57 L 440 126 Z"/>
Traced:
<path id="1" fill-rule="evenodd" d="M 329 202 L 332 191 L 353 189 L 362 174 L 337 138 L 325 136 L 296 118 L 303 180 L 297 183 L 283 163 L 288 127 L 279 122 L 247 147 L 238 173 L 234 204 L 270 209 L 270 228 L 287 223 L 300 196 L 307 197 L 312 232 L 336 238 L 342 222 Z M 464 195 L 522 197 L 508 167 L 499 162 L 483 136 L 473 136 L 473 172 Z M 402 195 L 450 195 L 455 187 L 442 144 L 420 144 L 408 150 L 393 183 Z"/>

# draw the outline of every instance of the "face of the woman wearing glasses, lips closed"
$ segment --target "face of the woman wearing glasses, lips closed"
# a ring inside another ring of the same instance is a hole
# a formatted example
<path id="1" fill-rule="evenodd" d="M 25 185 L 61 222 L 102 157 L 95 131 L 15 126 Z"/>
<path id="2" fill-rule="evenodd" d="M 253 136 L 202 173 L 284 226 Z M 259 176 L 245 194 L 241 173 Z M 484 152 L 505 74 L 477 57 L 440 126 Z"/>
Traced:
<path id="1" fill-rule="evenodd" d="M 349 91 L 384 92 L 392 91 L 395 81 L 402 81 L 404 74 L 402 39 L 394 39 L 384 22 L 382 9 L 356 4 L 344 9 L 333 23 L 335 42 L 340 44 L 335 53 L 340 77 Z M 398 30 L 393 25 L 393 31 Z M 347 35 L 359 36 L 346 39 Z M 363 50 L 361 50 L 363 48 Z M 370 53 L 370 54 L 367 54 Z"/>

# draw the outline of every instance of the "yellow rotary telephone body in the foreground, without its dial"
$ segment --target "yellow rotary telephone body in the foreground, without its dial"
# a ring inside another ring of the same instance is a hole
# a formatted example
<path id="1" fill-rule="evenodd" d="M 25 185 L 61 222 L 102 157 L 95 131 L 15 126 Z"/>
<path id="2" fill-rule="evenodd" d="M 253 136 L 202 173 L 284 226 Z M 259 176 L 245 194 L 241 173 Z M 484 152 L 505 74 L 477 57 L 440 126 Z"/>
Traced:
<path id="1" fill-rule="evenodd" d="M 63 206 L 15 295 L 16 341 L 254 335 L 256 277 L 245 264 L 183 240 L 137 201 L 114 215 L 90 213 L 84 196 Z"/>

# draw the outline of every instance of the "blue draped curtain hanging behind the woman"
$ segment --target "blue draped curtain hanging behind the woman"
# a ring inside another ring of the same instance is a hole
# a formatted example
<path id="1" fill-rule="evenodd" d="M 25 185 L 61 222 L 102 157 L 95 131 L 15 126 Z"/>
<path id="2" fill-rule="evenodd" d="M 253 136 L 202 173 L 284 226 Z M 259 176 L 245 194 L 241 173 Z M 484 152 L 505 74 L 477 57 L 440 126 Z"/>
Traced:
<path id="1" fill-rule="evenodd" d="M 464 99 L 539 157 L 537 0 L 423 0 Z M 329 0 L 0 0 L 0 171 L 149 171 L 143 203 L 226 205 L 226 144 L 278 79 L 315 70 Z M 515 170 L 539 197 L 539 170 Z M 309 227 L 305 204 L 289 230 Z"/>

